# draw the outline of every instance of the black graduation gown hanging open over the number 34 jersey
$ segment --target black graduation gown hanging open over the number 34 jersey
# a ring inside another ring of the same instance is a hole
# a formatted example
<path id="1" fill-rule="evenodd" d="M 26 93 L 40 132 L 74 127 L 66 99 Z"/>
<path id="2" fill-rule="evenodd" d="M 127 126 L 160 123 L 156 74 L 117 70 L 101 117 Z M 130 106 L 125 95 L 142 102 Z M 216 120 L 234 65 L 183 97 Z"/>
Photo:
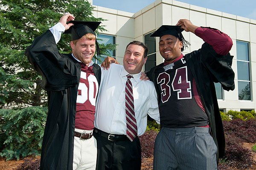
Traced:
<path id="1" fill-rule="evenodd" d="M 231 68 L 233 56 L 230 54 L 218 55 L 214 49 L 212 49 L 212 46 L 208 43 L 204 43 L 201 49 L 186 54 L 184 58 L 186 58 L 189 63 L 192 75 L 195 78 L 198 93 L 204 103 L 209 118 L 211 135 L 218 147 L 216 157 L 218 162 L 218 158 L 222 158 L 225 154 L 225 136 L 214 82 L 221 83 L 224 90 L 229 91 L 235 89 L 235 73 Z M 147 75 L 151 80 L 154 80 L 158 101 L 160 102 L 161 92 L 157 88 L 157 77 L 154 75 L 154 70 L 159 66 L 163 66 L 163 63 L 153 67 Z"/>

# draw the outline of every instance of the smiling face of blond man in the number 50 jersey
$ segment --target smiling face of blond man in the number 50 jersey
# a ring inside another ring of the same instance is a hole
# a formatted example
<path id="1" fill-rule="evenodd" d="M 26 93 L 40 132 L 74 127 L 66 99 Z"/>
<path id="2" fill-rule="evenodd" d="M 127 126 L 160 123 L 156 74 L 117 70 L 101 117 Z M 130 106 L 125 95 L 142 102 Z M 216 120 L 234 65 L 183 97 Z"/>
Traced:
<path id="1" fill-rule="evenodd" d="M 76 43 L 71 41 L 70 46 L 74 57 L 86 65 L 90 63 L 96 50 L 95 39 L 88 40 L 85 37 L 81 37 Z"/>

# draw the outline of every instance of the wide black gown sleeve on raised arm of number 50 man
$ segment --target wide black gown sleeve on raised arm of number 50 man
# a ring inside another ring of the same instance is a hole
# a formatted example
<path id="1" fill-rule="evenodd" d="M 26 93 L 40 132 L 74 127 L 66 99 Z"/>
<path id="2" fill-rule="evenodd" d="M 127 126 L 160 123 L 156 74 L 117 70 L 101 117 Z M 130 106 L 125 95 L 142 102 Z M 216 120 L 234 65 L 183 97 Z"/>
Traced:
<path id="1" fill-rule="evenodd" d="M 26 49 L 25 55 L 42 76 L 43 89 L 58 91 L 79 83 L 77 66 L 66 55 L 58 52 L 50 30 L 36 37 L 32 45 Z"/>

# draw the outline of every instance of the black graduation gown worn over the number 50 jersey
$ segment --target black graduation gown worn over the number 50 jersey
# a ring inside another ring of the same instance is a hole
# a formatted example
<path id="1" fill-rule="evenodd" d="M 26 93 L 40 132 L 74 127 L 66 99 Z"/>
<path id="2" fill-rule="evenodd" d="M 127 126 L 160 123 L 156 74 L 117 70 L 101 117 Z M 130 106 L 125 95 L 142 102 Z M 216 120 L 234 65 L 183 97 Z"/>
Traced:
<path id="1" fill-rule="evenodd" d="M 76 97 L 81 66 L 71 54 L 60 54 L 52 33 L 36 37 L 25 55 L 42 75 L 48 95 L 48 115 L 41 152 L 41 170 L 72 170 Z M 98 83 L 101 69 L 93 64 Z"/>

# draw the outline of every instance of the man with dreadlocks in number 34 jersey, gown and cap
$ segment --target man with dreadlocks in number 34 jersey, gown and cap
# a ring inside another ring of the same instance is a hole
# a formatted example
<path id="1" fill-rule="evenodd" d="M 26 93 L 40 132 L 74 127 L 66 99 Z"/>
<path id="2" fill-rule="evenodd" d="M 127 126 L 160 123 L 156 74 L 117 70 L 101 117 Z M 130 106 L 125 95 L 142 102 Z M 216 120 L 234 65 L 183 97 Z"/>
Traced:
<path id="1" fill-rule="evenodd" d="M 204 40 L 201 49 L 181 53 L 190 45 L 183 30 Z M 161 26 L 151 37 L 160 37 L 164 58 L 147 73 L 157 91 L 162 127 L 154 145 L 154 170 L 217 170 L 225 139 L 214 82 L 227 91 L 235 88 L 232 40 L 186 19 Z"/>

